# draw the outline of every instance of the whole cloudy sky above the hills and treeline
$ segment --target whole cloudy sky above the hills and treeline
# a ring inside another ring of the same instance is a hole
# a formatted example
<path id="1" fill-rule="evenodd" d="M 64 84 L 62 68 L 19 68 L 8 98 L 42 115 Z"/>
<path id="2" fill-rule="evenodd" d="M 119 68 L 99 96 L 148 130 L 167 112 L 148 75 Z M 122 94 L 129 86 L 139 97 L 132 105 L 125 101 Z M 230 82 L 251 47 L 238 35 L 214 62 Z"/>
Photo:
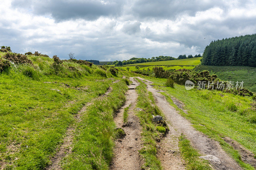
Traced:
<path id="1" fill-rule="evenodd" d="M 254 0 L 0 0 L 0 45 L 100 61 L 203 53 L 256 33 Z M 205 39 L 204 39 L 205 38 Z"/>

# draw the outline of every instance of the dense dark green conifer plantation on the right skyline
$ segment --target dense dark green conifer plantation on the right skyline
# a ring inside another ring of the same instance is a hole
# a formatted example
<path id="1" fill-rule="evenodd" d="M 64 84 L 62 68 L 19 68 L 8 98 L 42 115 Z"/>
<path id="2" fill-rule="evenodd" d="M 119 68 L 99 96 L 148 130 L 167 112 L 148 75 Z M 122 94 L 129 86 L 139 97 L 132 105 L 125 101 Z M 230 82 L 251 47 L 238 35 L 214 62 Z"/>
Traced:
<path id="1" fill-rule="evenodd" d="M 256 34 L 212 41 L 204 49 L 202 64 L 256 67 Z"/>

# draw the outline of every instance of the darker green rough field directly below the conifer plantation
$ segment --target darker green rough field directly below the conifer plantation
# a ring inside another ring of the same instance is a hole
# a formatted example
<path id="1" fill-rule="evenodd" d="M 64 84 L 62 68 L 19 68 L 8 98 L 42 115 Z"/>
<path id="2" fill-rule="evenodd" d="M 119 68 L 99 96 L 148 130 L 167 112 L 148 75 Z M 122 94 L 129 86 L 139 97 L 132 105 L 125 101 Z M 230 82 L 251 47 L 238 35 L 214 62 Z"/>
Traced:
<path id="1" fill-rule="evenodd" d="M 211 74 L 217 74 L 221 80 L 244 81 L 244 87 L 256 92 L 256 67 L 248 66 L 198 66 L 195 71 L 209 70 Z"/>

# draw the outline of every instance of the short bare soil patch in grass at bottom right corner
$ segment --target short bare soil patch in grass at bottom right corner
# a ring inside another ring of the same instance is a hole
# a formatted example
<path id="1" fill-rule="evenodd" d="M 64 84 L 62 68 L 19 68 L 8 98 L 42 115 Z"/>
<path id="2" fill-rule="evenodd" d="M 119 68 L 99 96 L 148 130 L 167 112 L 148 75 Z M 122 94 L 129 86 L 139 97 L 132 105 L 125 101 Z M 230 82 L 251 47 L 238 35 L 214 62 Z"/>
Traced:
<path id="1" fill-rule="evenodd" d="M 225 137 L 223 139 L 240 153 L 241 159 L 244 162 L 256 167 L 256 159 L 254 158 L 254 154 L 251 151 L 248 151 L 244 148 L 244 146 L 240 145 L 238 142 L 231 138 Z"/>

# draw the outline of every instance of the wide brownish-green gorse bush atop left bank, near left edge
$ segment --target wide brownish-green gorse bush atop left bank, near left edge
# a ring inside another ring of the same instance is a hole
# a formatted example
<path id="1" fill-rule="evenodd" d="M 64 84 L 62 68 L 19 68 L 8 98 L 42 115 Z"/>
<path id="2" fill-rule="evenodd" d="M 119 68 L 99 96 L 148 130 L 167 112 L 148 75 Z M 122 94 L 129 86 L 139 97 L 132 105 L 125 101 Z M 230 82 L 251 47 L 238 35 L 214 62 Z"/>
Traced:
<path id="1" fill-rule="evenodd" d="M 6 60 L 12 61 L 14 64 L 31 64 L 33 65 L 32 61 L 27 58 L 26 55 L 18 54 L 18 53 L 6 53 L 3 56 Z"/>

